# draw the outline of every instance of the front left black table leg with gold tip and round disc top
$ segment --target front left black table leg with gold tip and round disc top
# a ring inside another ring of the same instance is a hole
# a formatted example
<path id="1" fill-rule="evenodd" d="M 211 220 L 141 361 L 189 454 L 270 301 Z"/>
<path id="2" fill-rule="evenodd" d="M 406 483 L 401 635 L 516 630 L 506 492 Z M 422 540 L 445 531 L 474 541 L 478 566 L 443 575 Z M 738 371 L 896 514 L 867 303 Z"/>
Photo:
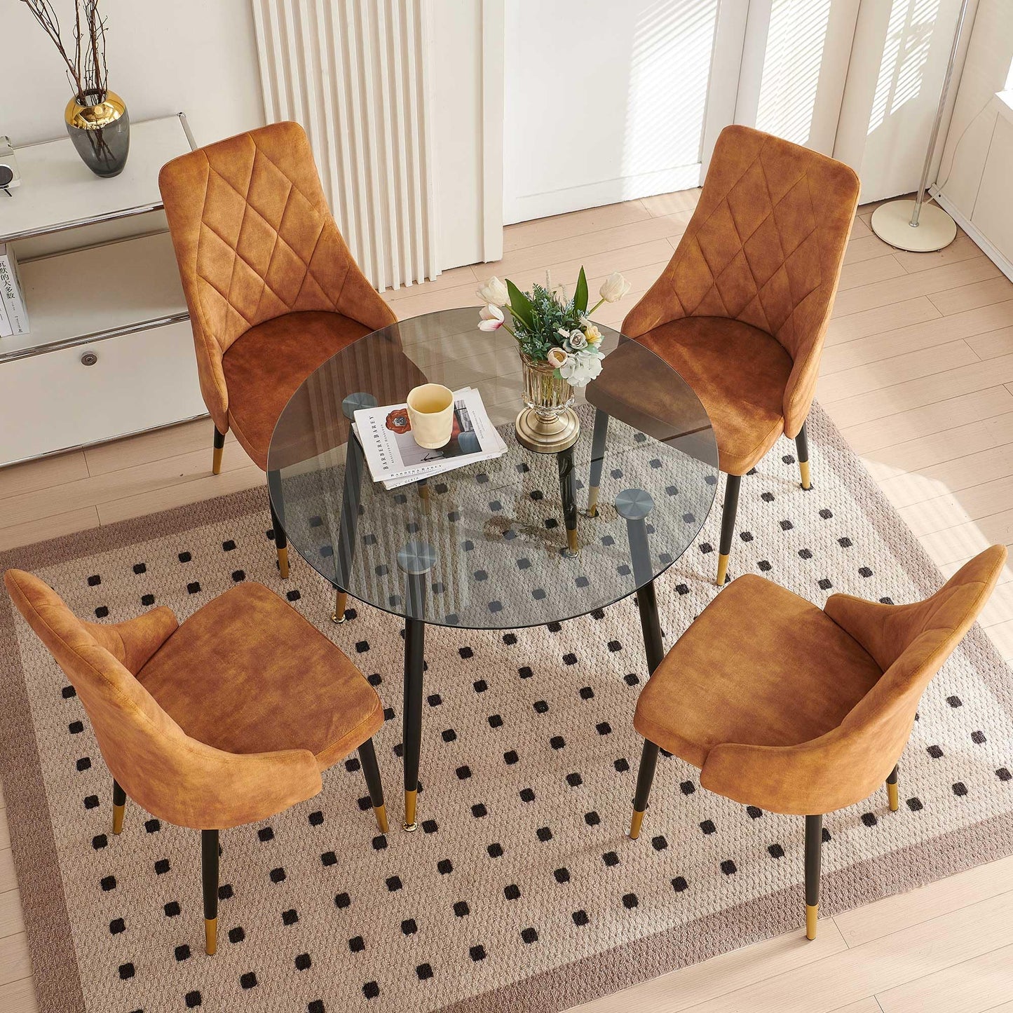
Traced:
<path id="1" fill-rule="evenodd" d="M 409 542 L 397 554 L 405 574 L 404 710 L 401 715 L 404 745 L 404 824 L 409 834 L 417 827 L 418 754 L 422 745 L 422 671 L 424 668 L 425 586 L 436 563 L 436 552 L 425 542 Z"/>

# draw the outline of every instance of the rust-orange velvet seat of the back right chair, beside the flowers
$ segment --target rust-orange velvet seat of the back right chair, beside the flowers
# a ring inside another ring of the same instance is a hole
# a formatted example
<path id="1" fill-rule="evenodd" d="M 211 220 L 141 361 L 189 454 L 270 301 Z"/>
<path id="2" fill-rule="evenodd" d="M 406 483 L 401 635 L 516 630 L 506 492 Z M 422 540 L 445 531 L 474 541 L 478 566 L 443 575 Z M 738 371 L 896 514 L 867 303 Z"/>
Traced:
<path id="1" fill-rule="evenodd" d="M 766 331 L 725 317 L 682 317 L 636 340 L 660 356 L 700 398 L 725 474 L 745 475 L 784 432 L 784 389 L 792 361 Z M 644 375 L 626 347 L 620 345 L 609 359 L 626 356 L 631 375 L 624 377 L 618 363 L 608 363 L 589 387 L 588 399 L 605 411 L 608 398 L 622 401 L 630 392 L 636 400 L 664 403 L 665 388 L 671 387 L 664 375 Z"/>

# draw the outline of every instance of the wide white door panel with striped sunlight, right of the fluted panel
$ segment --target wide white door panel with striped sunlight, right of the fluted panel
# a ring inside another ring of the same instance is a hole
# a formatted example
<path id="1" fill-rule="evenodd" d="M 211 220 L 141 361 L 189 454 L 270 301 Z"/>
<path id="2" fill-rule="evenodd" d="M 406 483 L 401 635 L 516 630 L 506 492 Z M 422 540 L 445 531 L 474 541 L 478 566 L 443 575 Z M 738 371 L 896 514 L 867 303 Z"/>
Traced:
<path id="1" fill-rule="evenodd" d="M 717 0 L 510 0 L 503 213 L 695 186 Z"/>

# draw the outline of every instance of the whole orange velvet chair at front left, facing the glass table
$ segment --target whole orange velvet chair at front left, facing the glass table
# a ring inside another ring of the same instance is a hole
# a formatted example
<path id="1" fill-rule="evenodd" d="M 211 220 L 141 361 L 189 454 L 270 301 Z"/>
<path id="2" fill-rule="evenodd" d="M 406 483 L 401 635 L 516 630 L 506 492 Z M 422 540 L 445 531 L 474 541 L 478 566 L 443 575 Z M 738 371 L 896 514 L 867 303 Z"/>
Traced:
<path id="1" fill-rule="evenodd" d="M 387 833 L 373 734 L 383 707 L 362 673 L 287 602 L 240 583 L 181 626 L 167 608 L 82 622 L 38 577 L 4 574 L 18 611 L 70 680 L 112 773 L 112 832 L 127 795 L 201 831 L 205 947 L 218 938 L 220 830 L 312 798 L 359 750 Z"/>

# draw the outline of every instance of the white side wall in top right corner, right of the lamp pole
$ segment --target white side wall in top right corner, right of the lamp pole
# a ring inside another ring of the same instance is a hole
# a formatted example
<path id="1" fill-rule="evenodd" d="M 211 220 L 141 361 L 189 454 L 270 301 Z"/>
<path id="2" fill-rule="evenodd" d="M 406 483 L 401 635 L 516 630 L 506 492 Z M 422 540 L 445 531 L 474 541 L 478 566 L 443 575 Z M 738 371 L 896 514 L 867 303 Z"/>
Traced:
<path id="1" fill-rule="evenodd" d="M 1013 3 L 981 0 L 938 171 L 944 197 L 967 218 L 975 209 L 996 126 L 992 96 L 1013 88 Z M 1013 165 L 1007 168 L 1013 177 Z"/>

